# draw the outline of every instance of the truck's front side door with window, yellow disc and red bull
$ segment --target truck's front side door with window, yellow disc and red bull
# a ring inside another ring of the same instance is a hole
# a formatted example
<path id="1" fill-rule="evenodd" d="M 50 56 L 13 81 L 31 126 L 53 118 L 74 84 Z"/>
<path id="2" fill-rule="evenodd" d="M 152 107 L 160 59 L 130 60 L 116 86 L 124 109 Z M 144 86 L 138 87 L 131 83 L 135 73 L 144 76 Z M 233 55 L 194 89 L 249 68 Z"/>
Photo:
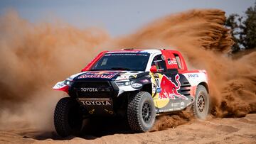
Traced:
<path id="1" fill-rule="evenodd" d="M 178 70 L 167 70 L 163 55 L 156 55 L 151 66 L 156 66 L 156 72 L 151 72 L 152 96 L 158 113 L 181 109 L 186 97 L 178 93 L 181 87 Z"/>

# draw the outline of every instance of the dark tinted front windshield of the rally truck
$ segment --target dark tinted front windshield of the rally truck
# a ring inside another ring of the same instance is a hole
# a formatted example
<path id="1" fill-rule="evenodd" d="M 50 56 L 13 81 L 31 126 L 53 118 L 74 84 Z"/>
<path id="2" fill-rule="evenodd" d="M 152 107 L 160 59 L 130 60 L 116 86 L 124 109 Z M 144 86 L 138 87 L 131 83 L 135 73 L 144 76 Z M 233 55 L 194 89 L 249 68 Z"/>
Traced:
<path id="1" fill-rule="evenodd" d="M 144 53 L 107 53 L 91 70 L 134 70 L 144 71 L 149 54 Z"/>

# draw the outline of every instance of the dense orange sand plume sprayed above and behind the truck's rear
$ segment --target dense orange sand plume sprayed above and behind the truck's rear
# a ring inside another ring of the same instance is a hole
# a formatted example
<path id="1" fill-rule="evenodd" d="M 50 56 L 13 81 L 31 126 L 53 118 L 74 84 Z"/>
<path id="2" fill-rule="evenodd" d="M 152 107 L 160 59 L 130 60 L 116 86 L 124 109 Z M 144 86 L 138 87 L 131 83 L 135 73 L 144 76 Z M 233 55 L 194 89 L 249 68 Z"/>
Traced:
<path id="1" fill-rule="evenodd" d="M 228 57 L 233 40 L 224 23 L 225 12 L 218 9 L 186 11 L 154 21 L 137 33 L 121 38 L 117 45 L 181 51 L 189 67 L 208 72 L 211 115 L 241 117 L 255 112 L 256 52 L 238 60 Z M 191 119 L 182 115 L 162 116 L 154 129 L 177 126 Z"/>

